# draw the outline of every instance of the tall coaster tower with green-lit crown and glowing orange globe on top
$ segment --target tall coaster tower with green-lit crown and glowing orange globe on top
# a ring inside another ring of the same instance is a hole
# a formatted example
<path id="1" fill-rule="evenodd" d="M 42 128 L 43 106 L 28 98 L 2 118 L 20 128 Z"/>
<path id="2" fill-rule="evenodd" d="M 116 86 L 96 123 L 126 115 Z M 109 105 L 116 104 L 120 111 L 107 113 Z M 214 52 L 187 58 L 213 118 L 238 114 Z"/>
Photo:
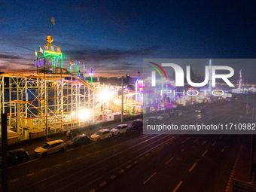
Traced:
<path id="1" fill-rule="evenodd" d="M 50 122 L 50 115 L 63 117 L 63 91 L 62 88 L 62 53 L 59 46 L 51 44 L 53 38 L 47 36 L 44 47 L 35 50 L 35 68 L 37 69 L 38 87 L 38 124 L 45 131 L 46 137 L 49 127 L 53 126 Z M 59 67 L 57 67 L 59 64 Z M 60 75 L 60 77 L 59 77 Z M 58 84 L 59 82 L 59 84 Z M 49 97 L 49 95 L 53 97 Z M 62 120 L 61 120 L 62 122 Z M 56 120 L 54 122 L 56 124 Z M 62 123 L 60 125 L 62 129 Z"/>

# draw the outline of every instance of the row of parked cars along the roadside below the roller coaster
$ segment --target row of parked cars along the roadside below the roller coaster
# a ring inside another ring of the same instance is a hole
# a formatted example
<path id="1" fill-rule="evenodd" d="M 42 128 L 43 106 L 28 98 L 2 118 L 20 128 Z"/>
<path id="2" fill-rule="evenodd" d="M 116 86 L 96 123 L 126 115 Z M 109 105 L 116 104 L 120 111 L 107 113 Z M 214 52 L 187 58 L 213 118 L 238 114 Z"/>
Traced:
<path id="1" fill-rule="evenodd" d="M 36 157 L 47 157 L 48 154 L 65 151 L 66 148 L 77 148 L 82 145 L 87 145 L 91 141 L 99 142 L 102 139 L 111 138 L 111 136 L 120 135 L 122 133 L 130 133 L 133 130 L 142 129 L 143 121 L 140 119 L 134 120 L 130 125 L 120 124 L 112 130 L 99 130 L 94 133 L 90 138 L 83 134 L 75 136 L 74 139 L 64 142 L 62 139 L 54 140 L 45 143 L 41 147 L 35 149 L 34 154 Z M 26 162 L 29 160 L 29 153 L 24 148 L 8 151 L 8 166 L 13 166 L 18 163 Z"/>

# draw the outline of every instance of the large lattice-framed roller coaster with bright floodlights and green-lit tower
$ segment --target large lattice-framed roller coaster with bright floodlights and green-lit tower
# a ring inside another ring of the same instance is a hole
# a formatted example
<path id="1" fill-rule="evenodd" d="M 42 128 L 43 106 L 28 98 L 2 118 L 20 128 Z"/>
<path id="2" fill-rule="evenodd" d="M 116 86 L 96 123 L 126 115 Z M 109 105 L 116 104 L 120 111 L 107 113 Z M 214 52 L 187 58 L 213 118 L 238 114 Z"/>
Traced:
<path id="1" fill-rule="evenodd" d="M 62 68 L 59 46 L 47 44 L 35 51 L 36 70 L 0 75 L 0 113 L 8 114 L 8 126 L 20 140 L 60 133 L 91 123 L 120 118 L 121 87 L 88 82 Z M 8 82 L 8 83 L 7 83 Z M 136 93 L 124 90 L 124 114 L 142 108 Z"/>

